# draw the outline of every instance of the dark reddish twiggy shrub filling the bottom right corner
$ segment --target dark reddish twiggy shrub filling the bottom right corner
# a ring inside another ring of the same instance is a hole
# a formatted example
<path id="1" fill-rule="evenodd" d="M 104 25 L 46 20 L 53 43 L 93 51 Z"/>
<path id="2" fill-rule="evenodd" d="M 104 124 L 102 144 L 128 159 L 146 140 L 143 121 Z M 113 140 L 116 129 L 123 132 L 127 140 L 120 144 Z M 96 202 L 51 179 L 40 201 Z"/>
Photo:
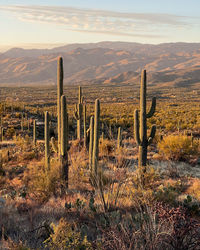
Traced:
<path id="1" fill-rule="evenodd" d="M 103 229 L 101 249 L 199 249 L 199 222 L 181 207 L 141 206 Z"/>

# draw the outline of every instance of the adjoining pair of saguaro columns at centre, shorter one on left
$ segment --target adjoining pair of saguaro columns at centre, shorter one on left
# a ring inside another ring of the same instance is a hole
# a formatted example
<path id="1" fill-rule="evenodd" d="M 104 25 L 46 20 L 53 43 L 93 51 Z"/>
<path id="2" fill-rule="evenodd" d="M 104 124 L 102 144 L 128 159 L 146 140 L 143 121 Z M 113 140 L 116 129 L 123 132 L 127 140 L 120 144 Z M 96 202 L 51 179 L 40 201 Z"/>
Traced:
<path id="1" fill-rule="evenodd" d="M 94 117 L 90 118 L 90 145 L 89 145 L 89 166 L 94 175 L 98 173 L 99 157 L 99 134 L 100 134 L 100 101 L 95 100 Z"/>

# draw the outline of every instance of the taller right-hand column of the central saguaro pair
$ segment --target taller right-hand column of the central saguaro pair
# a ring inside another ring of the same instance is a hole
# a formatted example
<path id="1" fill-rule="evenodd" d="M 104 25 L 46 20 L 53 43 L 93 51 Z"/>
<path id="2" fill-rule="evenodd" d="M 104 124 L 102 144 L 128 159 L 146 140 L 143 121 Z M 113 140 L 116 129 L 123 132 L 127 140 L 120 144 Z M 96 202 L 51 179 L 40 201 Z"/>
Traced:
<path id="1" fill-rule="evenodd" d="M 100 101 L 95 100 L 94 112 L 94 142 L 92 153 L 92 171 L 97 176 L 98 173 L 98 158 L 99 158 L 99 134 L 100 134 Z"/>

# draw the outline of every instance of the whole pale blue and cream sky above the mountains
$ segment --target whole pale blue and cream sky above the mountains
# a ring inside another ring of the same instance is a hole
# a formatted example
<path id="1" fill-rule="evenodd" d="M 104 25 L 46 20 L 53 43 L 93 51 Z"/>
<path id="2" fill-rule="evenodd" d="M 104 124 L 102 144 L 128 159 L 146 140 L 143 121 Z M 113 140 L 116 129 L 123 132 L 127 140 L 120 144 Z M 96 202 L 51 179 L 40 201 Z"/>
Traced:
<path id="1" fill-rule="evenodd" d="M 200 42 L 200 0 L 0 0 L 0 51 L 70 43 Z"/>

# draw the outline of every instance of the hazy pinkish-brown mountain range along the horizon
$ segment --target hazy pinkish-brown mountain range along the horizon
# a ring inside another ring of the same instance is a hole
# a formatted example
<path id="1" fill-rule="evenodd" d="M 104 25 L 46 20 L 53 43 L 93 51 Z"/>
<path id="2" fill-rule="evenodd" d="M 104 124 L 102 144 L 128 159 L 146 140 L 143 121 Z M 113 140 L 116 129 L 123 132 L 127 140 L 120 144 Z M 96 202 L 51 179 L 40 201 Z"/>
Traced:
<path id="1" fill-rule="evenodd" d="M 64 59 L 66 84 L 133 83 L 144 68 L 151 84 L 200 83 L 200 43 L 100 42 L 53 49 L 12 48 L 0 54 L 0 84 L 55 85 L 59 56 Z"/>

